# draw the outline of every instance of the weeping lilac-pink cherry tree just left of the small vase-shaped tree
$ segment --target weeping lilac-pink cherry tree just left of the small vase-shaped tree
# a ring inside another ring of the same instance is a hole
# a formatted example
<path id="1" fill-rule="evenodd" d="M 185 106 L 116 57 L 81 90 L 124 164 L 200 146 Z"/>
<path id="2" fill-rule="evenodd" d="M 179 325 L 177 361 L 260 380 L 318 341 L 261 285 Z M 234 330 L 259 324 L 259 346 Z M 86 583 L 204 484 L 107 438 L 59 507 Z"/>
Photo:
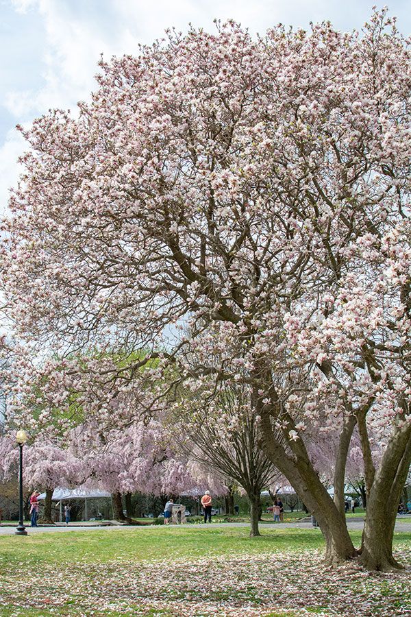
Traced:
<path id="1" fill-rule="evenodd" d="M 114 516 L 123 520 L 121 495 L 133 492 L 179 495 L 199 487 L 206 472 L 190 468 L 182 451 L 159 423 L 138 422 L 127 428 L 103 430 L 96 422 L 78 426 L 71 434 L 71 452 L 82 459 L 80 483 L 112 493 Z M 221 493 L 221 483 L 211 481 Z"/>

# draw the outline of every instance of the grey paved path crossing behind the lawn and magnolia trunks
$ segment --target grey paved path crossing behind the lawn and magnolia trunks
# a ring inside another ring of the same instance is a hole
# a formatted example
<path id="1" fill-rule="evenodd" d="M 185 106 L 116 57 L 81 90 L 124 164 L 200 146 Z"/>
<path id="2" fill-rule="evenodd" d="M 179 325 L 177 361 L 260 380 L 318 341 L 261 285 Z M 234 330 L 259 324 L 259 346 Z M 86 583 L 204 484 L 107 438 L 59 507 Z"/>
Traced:
<path id="1" fill-rule="evenodd" d="M 364 520 L 362 519 L 351 519 L 347 520 L 348 529 L 357 529 L 359 531 L 362 530 L 364 526 Z M 189 523 L 186 525 L 182 525 L 181 527 L 188 529 L 206 529 L 204 524 L 197 523 Z M 230 522 L 230 523 L 212 523 L 210 526 L 212 529 L 222 528 L 222 527 L 249 527 L 249 523 L 245 522 Z M 299 522 L 299 523 L 260 523 L 261 529 L 312 529 L 312 524 L 310 522 Z M 117 531 L 118 529 L 127 529 L 130 533 L 132 531 L 142 531 L 144 529 L 153 529 L 151 525 L 107 525 L 107 526 L 92 526 L 88 525 L 69 525 L 68 527 L 55 525 L 53 527 L 27 527 L 27 532 L 29 534 L 32 533 L 67 533 L 70 531 L 95 531 L 96 529 L 101 529 L 105 531 Z M 157 529 L 162 529 L 162 527 L 157 527 Z M 318 528 L 317 528 L 318 529 Z M 14 535 L 16 531 L 15 527 L 0 527 L 0 535 Z M 395 531 L 409 531 L 411 532 L 411 522 L 403 522 L 401 519 L 397 519 L 395 523 Z"/>

